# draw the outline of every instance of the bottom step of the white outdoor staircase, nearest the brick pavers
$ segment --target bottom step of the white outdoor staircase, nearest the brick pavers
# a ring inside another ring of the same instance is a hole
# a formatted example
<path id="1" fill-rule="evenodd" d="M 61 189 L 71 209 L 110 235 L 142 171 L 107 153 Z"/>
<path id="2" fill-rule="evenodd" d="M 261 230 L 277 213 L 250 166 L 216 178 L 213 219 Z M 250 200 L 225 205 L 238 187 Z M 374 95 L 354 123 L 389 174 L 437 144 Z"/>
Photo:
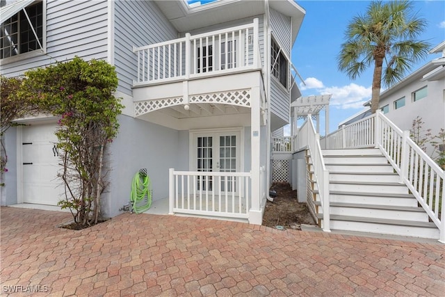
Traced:
<path id="1" fill-rule="evenodd" d="M 318 218 L 323 219 L 323 214 L 318 214 Z M 334 230 L 413 236 L 428 239 L 439 239 L 440 235 L 439 229 L 432 222 L 339 215 L 331 215 L 330 218 L 330 228 Z M 323 227 L 323 220 L 321 225 Z"/>

